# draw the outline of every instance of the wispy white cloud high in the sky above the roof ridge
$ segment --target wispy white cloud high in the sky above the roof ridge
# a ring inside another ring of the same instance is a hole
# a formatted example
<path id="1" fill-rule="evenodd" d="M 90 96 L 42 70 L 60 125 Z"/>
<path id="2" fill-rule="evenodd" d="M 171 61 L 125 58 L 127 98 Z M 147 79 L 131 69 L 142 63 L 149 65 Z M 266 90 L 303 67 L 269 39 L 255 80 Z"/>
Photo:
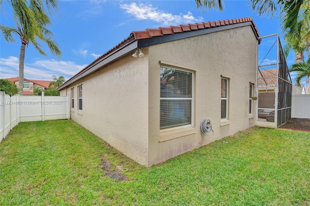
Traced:
<path id="1" fill-rule="evenodd" d="M 163 23 L 164 25 L 178 25 L 202 22 L 201 16 L 195 17 L 192 13 L 172 15 L 153 7 L 152 4 L 143 4 L 132 2 L 130 4 L 121 4 L 120 7 L 126 11 L 127 14 L 133 15 L 138 20 L 152 20 L 155 22 Z"/>

